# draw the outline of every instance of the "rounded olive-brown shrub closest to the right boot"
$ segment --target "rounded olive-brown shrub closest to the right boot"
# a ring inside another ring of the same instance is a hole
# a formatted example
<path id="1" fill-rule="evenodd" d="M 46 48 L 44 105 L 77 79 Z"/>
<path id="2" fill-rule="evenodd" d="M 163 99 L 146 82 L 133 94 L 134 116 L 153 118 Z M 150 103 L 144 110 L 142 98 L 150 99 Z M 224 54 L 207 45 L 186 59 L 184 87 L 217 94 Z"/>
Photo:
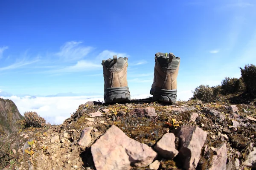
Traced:
<path id="1" fill-rule="evenodd" d="M 213 90 L 209 85 L 200 85 L 192 93 L 194 94 L 192 99 L 199 99 L 204 102 L 212 102 L 214 100 Z"/>

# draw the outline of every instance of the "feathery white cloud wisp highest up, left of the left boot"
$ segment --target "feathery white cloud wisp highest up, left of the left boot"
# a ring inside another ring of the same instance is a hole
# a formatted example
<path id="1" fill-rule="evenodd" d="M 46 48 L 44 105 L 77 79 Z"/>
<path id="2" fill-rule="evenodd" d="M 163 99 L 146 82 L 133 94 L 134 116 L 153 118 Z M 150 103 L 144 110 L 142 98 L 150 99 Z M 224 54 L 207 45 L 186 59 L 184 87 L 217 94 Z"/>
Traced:
<path id="1" fill-rule="evenodd" d="M 84 58 L 90 51 L 93 50 L 90 46 L 81 46 L 82 42 L 70 41 L 66 42 L 60 49 L 57 55 L 64 61 L 78 60 Z"/>

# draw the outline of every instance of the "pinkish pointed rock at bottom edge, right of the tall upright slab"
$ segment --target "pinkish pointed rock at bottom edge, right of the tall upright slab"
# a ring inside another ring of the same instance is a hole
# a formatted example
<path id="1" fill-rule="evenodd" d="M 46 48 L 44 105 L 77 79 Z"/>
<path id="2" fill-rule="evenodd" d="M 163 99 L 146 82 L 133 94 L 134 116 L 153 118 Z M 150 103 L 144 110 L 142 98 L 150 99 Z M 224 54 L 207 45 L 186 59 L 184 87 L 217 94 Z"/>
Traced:
<path id="1" fill-rule="evenodd" d="M 216 148 L 215 152 L 217 155 L 212 156 L 212 166 L 209 170 L 226 170 L 227 164 L 227 146 L 226 143 L 221 144 L 220 147 Z"/>

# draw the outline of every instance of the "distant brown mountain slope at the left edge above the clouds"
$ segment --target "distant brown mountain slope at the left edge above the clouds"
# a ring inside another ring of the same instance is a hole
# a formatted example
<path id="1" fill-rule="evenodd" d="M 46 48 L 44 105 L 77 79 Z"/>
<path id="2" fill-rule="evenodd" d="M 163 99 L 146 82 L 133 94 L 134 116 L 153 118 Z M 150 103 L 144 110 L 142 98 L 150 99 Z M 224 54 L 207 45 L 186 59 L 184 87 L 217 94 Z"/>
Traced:
<path id="1" fill-rule="evenodd" d="M 0 98 L 0 132 L 11 133 L 17 129 L 17 120 L 23 119 L 12 100 Z"/>

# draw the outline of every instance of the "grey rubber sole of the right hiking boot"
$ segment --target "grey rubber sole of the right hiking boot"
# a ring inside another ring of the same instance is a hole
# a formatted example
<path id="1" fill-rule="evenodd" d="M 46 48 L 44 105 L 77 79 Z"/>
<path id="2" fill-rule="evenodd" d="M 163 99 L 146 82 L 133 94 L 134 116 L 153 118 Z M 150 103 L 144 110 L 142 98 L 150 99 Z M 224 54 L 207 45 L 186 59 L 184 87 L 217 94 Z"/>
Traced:
<path id="1" fill-rule="evenodd" d="M 150 94 L 153 95 L 153 101 L 160 101 L 175 104 L 177 99 L 177 89 L 175 90 L 166 90 L 161 88 L 154 88 L 150 90 Z"/>

